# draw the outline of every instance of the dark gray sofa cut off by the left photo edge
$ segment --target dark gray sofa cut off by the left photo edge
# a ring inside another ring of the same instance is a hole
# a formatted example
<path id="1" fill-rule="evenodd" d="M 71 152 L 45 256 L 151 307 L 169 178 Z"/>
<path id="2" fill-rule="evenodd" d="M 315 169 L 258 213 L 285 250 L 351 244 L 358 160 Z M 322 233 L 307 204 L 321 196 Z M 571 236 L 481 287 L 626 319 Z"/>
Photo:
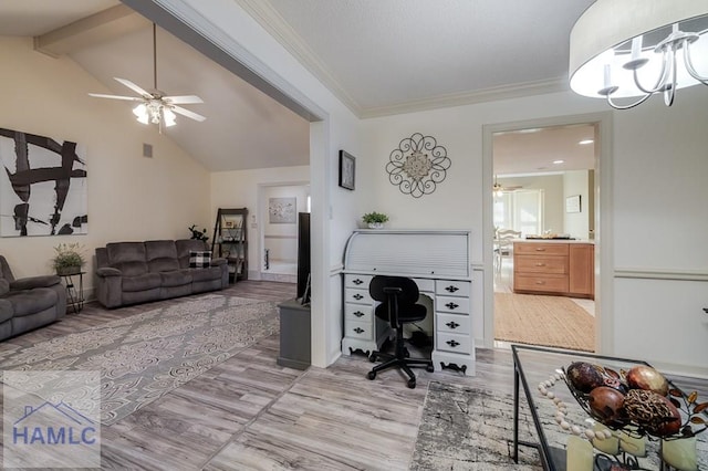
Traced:
<path id="1" fill-rule="evenodd" d="M 56 275 L 14 279 L 0 255 L 0 341 L 59 321 L 66 314 L 66 289 Z"/>

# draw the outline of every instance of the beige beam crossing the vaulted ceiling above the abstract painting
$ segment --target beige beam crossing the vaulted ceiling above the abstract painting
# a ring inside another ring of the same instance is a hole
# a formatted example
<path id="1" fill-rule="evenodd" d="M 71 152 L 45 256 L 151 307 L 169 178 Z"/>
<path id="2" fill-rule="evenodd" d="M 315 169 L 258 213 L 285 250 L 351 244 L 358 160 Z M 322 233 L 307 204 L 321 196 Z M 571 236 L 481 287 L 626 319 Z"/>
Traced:
<path id="1" fill-rule="evenodd" d="M 52 57 L 119 38 L 150 22 L 125 4 L 117 4 L 65 27 L 34 36 L 34 50 Z"/>

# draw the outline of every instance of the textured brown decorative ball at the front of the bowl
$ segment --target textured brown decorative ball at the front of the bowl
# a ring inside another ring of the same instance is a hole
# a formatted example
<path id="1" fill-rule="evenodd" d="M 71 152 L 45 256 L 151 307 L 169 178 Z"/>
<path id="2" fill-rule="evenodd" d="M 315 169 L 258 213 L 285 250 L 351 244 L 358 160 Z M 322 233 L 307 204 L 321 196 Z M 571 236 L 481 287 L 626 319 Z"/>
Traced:
<path id="1" fill-rule="evenodd" d="M 627 416 L 655 437 L 678 433 L 681 416 L 676 406 L 658 393 L 631 389 L 624 399 Z"/>

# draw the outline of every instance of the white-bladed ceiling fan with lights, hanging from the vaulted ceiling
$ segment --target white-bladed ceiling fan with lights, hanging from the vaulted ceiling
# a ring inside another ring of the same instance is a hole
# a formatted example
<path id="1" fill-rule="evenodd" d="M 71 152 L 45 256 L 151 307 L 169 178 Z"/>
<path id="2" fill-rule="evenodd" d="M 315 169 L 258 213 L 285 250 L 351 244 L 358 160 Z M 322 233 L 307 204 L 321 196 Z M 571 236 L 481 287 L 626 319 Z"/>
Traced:
<path id="1" fill-rule="evenodd" d="M 165 95 L 163 91 L 157 88 L 157 27 L 155 25 L 155 23 L 153 23 L 153 77 L 154 88 L 150 92 L 139 87 L 129 80 L 114 77 L 116 81 L 121 82 L 123 85 L 140 95 L 139 97 L 106 95 L 103 93 L 90 93 L 88 95 L 95 96 L 97 98 L 126 100 L 131 102 L 138 102 L 139 104 L 135 108 L 133 108 L 133 114 L 137 116 L 137 121 L 143 124 L 153 123 L 159 125 L 160 133 L 163 124 L 165 125 L 165 127 L 174 126 L 176 124 L 175 113 L 198 122 L 202 122 L 206 119 L 206 117 L 201 116 L 200 114 L 183 108 L 181 106 L 177 106 L 204 103 L 200 97 L 196 95 L 168 96 Z"/>

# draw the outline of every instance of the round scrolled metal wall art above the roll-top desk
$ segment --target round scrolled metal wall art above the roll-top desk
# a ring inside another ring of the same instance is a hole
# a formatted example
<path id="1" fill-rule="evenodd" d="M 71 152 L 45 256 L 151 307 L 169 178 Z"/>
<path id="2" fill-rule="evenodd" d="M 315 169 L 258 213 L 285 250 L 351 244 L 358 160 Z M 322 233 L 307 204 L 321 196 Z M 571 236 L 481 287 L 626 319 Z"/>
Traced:
<path id="1" fill-rule="evenodd" d="M 420 198 L 430 195 L 445 180 L 451 161 L 447 150 L 433 136 L 415 133 L 398 144 L 388 156 L 388 181 L 404 195 Z"/>

